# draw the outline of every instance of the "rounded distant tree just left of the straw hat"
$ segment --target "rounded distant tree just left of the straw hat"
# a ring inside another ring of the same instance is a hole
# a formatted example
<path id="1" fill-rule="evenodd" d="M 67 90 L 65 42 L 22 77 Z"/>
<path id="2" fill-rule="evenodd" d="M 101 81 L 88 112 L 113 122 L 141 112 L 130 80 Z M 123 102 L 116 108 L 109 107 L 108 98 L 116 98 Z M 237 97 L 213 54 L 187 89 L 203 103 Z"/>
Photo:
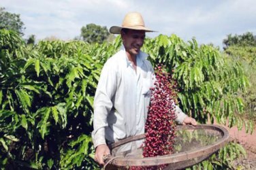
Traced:
<path id="1" fill-rule="evenodd" d="M 97 24 L 86 24 L 86 26 L 81 29 L 82 40 L 90 44 L 101 44 L 108 39 L 109 35 L 110 33 L 108 33 L 107 27 L 101 27 Z"/>

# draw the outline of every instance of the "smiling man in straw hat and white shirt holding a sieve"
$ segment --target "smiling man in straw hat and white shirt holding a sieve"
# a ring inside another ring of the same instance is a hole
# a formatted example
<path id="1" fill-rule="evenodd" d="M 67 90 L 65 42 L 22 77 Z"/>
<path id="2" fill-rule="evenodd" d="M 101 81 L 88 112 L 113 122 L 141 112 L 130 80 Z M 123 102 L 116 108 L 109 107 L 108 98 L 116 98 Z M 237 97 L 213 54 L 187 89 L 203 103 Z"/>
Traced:
<path id="1" fill-rule="evenodd" d="M 122 27 L 110 28 L 110 33 L 121 34 L 123 48 L 104 65 L 95 94 L 92 137 L 95 160 L 101 165 L 103 156 L 110 154 L 108 144 L 144 133 L 154 80 L 148 55 L 140 51 L 146 32 L 153 31 L 138 12 L 127 14 Z M 178 107 L 176 115 L 180 124 L 197 124 Z"/>

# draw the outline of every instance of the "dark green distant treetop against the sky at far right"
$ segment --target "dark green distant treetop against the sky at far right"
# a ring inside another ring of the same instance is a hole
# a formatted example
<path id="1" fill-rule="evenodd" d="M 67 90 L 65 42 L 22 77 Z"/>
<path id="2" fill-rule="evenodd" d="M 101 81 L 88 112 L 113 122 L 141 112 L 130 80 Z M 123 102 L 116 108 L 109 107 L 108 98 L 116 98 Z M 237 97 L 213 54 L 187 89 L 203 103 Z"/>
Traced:
<path id="1" fill-rule="evenodd" d="M 251 32 L 244 33 L 242 35 L 227 35 L 226 39 L 223 39 L 224 50 L 229 46 L 256 46 L 256 35 Z"/>

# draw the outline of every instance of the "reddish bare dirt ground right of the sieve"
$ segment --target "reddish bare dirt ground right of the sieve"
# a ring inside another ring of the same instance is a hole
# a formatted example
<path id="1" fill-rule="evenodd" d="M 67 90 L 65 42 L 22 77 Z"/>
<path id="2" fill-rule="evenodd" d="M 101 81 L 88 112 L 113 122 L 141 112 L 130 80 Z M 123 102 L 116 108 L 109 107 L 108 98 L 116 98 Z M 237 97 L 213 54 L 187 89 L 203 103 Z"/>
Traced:
<path id="1" fill-rule="evenodd" d="M 229 129 L 229 135 L 231 140 L 237 141 L 244 146 L 247 152 L 247 157 L 236 160 L 234 167 L 236 167 L 236 169 L 246 170 L 256 169 L 256 126 L 252 134 L 246 133 L 245 127 L 243 127 L 241 131 L 238 131 L 238 128 L 234 126 Z"/>

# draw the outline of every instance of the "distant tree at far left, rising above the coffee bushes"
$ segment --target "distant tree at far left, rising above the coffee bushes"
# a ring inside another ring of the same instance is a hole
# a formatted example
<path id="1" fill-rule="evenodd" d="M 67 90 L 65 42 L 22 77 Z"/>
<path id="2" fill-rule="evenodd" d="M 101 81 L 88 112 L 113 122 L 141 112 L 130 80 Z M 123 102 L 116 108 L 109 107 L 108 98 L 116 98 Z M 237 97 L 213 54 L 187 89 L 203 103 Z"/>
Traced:
<path id="1" fill-rule="evenodd" d="M 5 12 L 5 7 L 0 7 L 0 29 L 17 31 L 20 35 L 24 35 L 25 27 L 20 20 L 20 14 Z"/>

